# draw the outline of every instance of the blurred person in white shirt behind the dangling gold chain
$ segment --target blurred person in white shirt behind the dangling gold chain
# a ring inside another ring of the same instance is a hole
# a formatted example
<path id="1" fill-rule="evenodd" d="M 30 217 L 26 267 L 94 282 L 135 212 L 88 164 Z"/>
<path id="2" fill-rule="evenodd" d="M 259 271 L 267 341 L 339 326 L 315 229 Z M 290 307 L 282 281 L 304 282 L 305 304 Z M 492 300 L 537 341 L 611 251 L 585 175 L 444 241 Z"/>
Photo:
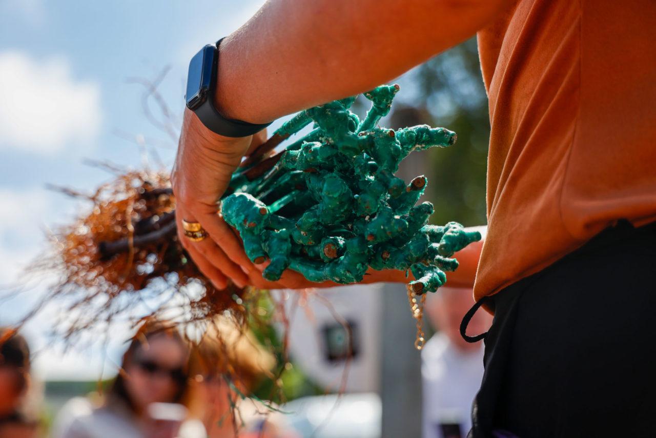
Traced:
<path id="1" fill-rule="evenodd" d="M 438 330 L 421 351 L 422 436 L 461 438 L 472 427 L 474 396 L 483 378 L 483 345 L 469 343 L 460 335 L 460 323 L 472 306 L 472 288 L 442 286 L 428 294 L 424 315 Z M 492 323 L 478 312 L 470 330 L 485 332 Z"/>

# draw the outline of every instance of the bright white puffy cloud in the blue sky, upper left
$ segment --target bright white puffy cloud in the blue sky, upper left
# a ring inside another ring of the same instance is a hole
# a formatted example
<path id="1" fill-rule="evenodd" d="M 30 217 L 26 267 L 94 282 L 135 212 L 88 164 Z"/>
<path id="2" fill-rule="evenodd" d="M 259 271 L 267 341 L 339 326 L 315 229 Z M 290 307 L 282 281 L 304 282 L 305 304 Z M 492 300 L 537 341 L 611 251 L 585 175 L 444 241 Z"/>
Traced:
<path id="1" fill-rule="evenodd" d="M 52 154 L 91 140 L 101 118 L 98 85 L 75 81 L 65 59 L 0 53 L 0 148 Z"/>

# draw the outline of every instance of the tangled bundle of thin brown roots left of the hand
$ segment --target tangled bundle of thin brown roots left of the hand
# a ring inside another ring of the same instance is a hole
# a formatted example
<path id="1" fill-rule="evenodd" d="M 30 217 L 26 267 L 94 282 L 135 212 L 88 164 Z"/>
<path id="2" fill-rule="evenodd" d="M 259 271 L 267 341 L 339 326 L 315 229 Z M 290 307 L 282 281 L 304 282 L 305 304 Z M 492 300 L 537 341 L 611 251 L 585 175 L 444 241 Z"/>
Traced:
<path id="1" fill-rule="evenodd" d="M 56 276 L 45 301 L 66 303 L 64 338 L 116 318 L 193 323 L 227 311 L 244 321 L 246 291 L 217 290 L 178 241 L 167 174 L 131 171 L 93 194 L 62 191 L 91 208 L 51 233 L 51 251 L 29 271 Z"/>

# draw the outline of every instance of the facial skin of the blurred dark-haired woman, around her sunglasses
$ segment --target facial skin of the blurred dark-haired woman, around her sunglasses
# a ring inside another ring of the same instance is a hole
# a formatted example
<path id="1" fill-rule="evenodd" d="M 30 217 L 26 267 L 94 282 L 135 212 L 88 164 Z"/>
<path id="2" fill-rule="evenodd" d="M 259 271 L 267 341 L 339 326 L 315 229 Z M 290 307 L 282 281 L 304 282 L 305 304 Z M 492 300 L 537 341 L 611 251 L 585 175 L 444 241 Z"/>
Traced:
<path id="1" fill-rule="evenodd" d="M 135 359 L 154 361 L 166 368 L 180 368 L 186 363 L 186 350 L 174 339 L 165 334 L 148 339 L 148 346 L 142 347 L 134 354 Z M 178 383 L 166 373 L 150 374 L 134 362 L 125 366 L 127 373 L 126 389 L 137 412 L 146 413 L 150 403 L 172 403 Z"/>

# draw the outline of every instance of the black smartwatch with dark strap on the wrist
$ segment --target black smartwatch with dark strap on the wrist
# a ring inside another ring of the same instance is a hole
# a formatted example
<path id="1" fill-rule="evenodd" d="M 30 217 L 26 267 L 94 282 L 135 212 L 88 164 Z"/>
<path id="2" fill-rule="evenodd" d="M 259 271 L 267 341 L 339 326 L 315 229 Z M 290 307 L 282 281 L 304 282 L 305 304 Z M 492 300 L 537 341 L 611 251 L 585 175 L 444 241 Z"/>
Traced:
<path id="1" fill-rule="evenodd" d="M 271 123 L 256 125 L 247 121 L 226 119 L 214 106 L 216 74 L 218 72 L 218 47 L 208 44 L 194 55 L 189 62 L 187 92 L 184 99 L 187 108 L 195 112 L 203 125 L 224 137 L 247 137 L 266 128 Z"/>

